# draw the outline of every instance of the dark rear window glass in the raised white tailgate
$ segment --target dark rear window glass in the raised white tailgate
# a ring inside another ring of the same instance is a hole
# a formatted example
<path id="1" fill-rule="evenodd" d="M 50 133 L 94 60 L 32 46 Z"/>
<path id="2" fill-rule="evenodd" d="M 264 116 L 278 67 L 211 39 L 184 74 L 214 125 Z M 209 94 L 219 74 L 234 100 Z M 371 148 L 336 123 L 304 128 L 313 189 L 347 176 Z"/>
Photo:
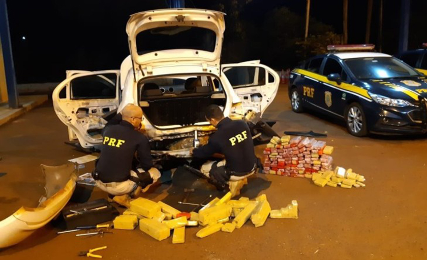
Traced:
<path id="1" fill-rule="evenodd" d="M 217 40 L 215 31 L 192 26 L 166 26 L 141 31 L 136 35 L 139 55 L 149 52 L 192 49 L 214 52 Z"/>

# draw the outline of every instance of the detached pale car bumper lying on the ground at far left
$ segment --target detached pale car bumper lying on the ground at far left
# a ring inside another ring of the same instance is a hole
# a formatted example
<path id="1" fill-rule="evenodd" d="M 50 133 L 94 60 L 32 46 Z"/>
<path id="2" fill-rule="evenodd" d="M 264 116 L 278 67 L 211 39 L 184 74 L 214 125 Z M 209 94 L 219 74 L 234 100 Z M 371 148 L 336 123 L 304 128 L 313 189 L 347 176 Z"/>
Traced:
<path id="1" fill-rule="evenodd" d="M 23 206 L 0 221 L 0 248 L 13 246 L 45 226 L 73 195 L 77 179 L 74 164 L 53 167 L 42 164 L 41 168 L 46 178 L 45 196 L 37 208 Z"/>

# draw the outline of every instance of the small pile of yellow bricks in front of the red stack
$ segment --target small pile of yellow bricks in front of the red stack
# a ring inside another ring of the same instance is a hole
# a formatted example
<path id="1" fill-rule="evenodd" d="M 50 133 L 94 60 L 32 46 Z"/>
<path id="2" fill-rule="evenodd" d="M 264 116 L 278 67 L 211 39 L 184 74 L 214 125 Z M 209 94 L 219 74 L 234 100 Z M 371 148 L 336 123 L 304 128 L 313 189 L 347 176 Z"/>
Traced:
<path id="1" fill-rule="evenodd" d="M 347 189 L 351 189 L 352 187 L 365 187 L 363 183 L 365 178 L 363 175 L 354 173 L 352 169 L 346 170 L 342 167 L 337 167 L 334 171 L 327 170 L 314 173 L 312 180 L 314 184 L 320 187 L 325 187 L 325 185 L 330 187 L 337 187 L 340 185 L 341 188 Z"/>

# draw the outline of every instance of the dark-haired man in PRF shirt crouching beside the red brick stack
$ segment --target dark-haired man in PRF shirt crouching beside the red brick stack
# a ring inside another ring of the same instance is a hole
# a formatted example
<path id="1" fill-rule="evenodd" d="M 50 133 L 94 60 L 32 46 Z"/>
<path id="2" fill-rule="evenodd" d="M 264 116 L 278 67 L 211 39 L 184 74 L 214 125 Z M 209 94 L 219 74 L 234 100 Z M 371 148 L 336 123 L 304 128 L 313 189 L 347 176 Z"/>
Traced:
<path id="1" fill-rule="evenodd" d="M 247 183 L 246 178 L 255 173 L 259 163 L 251 131 L 242 120 L 224 117 L 218 105 L 208 106 L 205 117 L 218 130 L 209 137 L 206 145 L 192 151 L 193 156 L 207 159 L 216 153 L 223 154 L 225 160 L 209 161 L 202 165 L 200 171 L 222 185 L 228 184 L 233 196 L 238 195 Z"/>

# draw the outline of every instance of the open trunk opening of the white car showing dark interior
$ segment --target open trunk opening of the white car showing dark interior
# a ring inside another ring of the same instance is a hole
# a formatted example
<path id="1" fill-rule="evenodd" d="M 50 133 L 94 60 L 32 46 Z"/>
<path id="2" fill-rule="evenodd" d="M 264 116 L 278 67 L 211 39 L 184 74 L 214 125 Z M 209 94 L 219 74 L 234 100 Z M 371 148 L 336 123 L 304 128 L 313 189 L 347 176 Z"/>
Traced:
<path id="1" fill-rule="evenodd" d="M 224 107 L 226 96 L 212 76 L 179 76 L 141 80 L 140 105 L 146 119 L 156 127 L 186 127 L 206 122 L 211 104 Z"/>

